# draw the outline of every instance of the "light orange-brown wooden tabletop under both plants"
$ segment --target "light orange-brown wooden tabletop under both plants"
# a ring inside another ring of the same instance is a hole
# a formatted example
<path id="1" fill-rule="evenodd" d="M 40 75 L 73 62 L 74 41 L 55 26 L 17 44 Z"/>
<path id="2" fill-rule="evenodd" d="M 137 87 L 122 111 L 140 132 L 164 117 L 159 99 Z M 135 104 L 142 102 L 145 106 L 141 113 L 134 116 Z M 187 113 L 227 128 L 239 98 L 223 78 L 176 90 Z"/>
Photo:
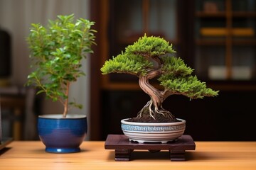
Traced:
<path id="1" fill-rule="evenodd" d="M 0 151 L 0 169 L 256 169 L 256 142 L 196 142 L 185 162 L 171 162 L 169 152 L 134 150 L 129 162 L 115 162 L 105 142 L 85 141 L 81 152 L 50 154 L 40 141 L 14 141 Z"/>

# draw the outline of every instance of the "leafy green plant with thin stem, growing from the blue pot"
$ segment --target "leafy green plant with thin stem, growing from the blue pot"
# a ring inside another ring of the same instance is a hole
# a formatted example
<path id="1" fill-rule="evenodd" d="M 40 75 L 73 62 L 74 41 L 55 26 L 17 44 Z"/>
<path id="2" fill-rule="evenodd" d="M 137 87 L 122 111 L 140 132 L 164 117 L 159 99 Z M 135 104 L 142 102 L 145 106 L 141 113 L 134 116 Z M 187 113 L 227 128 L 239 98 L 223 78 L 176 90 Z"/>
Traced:
<path id="1" fill-rule="evenodd" d="M 58 16 L 49 20 L 48 27 L 41 23 L 32 23 L 27 42 L 31 50 L 31 67 L 34 71 L 28 75 L 27 85 L 34 85 L 38 93 L 46 98 L 63 104 L 65 117 L 70 106 L 82 108 L 82 105 L 69 102 L 70 84 L 85 73 L 80 69 L 82 59 L 92 53 L 96 30 L 94 22 L 80 18 L 74 21 L 74 14 Z"/>

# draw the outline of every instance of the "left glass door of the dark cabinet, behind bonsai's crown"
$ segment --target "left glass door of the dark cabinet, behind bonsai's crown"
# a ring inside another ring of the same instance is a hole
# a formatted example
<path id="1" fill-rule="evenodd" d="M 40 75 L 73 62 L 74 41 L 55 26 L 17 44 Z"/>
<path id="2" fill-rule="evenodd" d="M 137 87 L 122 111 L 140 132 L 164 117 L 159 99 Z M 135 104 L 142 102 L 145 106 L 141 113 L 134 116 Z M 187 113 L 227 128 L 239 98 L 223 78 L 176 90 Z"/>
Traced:
<path id="1" fill-rule="evenodd" d="M 106 3 L 106 2 L 105 2 Z M 124 51 L 127 45 L 146 35 L 165 38 L 174 45 L 176 55 L 181 53 L 181 21 L 178 19 L 177 0 L 109 0 L 106 3 L 107 44 L 104 45 L 102 64 Z M 103 89 L 139 89 L 137 77 L 127 74 L 109 74 L 102 77 Z"/>

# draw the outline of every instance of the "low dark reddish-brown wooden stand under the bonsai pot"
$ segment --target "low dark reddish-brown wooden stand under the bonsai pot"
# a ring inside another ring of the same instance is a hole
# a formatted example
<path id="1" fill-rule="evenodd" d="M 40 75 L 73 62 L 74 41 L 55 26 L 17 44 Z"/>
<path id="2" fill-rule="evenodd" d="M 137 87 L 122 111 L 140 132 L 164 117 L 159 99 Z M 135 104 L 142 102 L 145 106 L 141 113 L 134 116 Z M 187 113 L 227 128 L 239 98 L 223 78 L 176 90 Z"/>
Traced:
<path id="1" fill-rule="evenodd" d="M 195 150 L 196 144 L 190 135 L 182 135 L 175 142 L 161 143 L 138 143 L 130 142 L 125 135 L 107 135 L 105 149 L 114 149 L 115 161 L 129 161 L 130 154 L 134 149 L 146 149 L 149 152 L 169 150 L 171 161 L 185 161 L 186 150 Z"/>

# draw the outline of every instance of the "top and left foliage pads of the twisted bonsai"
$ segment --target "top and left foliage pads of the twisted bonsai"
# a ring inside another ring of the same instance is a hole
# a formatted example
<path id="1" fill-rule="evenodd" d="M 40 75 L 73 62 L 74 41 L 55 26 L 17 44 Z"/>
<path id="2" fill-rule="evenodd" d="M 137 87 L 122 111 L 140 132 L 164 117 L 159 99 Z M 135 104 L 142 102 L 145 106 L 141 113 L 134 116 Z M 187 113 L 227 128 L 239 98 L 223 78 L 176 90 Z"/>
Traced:
<path id="1" fill-rule="evenodd" d="M 101 71 L 102 74 L 127 73 L 141 77 L 146 74 L 147 70 L 154 68 L 154 63 L 150 60 L 152 57 L 170 52 L 175 51 L 172 45 L 169 45 L 169 42 L 163 38 L 144 35 L 133 45 L 127 46 L 125 52 L 106 61 Z"/>

